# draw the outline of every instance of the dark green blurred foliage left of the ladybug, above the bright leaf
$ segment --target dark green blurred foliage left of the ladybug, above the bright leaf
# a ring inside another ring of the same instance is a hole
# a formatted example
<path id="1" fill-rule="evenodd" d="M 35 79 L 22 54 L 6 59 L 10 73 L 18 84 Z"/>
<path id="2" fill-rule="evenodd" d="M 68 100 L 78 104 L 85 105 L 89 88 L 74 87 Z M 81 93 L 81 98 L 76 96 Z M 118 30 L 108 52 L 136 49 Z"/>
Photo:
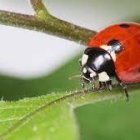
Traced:
<path id="1" fill-rule="evenodd" d="M 36 79 L 19 79 L 0 76 L 0 97 L 4 100 L 18 100 L 24 97 L 46 95 L 51 92 L 70 91 L 80 88 L 79 79 L 69 80 L 70 76 L 79 74 L 78 55 L 61 66 L 49 76 Z"/>

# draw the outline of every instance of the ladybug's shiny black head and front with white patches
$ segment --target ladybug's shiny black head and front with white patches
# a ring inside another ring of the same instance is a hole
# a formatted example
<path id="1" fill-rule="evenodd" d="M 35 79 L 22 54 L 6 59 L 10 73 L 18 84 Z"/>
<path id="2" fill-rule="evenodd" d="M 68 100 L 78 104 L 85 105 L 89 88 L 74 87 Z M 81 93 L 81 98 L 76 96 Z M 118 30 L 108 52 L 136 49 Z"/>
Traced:
<path id="1" fill-rule="evenodd" d="M 115 73 L 111 55 L 102 48 L 87 48 L 81 59 L 81 77 L 84 82 L 106 82 Z"/>

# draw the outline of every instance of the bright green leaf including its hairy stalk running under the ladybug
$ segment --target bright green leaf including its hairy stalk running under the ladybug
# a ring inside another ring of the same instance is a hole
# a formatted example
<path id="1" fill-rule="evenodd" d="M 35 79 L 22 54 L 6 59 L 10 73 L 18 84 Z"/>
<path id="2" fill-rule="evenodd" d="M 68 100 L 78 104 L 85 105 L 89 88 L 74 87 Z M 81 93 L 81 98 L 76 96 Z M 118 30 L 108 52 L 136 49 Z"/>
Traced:
<path id="1" fill-rule="evenodd" d="M 138 86 L 132 87 L 130 93 L 137 93 L 137 89 Z M 77 140 L 79 131 L 74 117 L 76 107 L 105 100 L 121 100 L 124 97 L 119 88 L 111 93 L 99 93 L 52 93 L 15 102 L 1 101 L 0 139 Z"/>

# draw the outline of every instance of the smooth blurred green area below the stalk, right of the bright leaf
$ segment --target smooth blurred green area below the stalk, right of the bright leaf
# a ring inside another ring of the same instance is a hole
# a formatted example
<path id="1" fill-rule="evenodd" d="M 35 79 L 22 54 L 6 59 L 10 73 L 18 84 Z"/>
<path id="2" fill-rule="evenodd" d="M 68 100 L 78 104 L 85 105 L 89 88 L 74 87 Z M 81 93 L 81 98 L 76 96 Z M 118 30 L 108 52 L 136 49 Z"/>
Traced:
<path id="1" fill-rule="evenodd" d="M 77 108 L 80 140 L 139 140 L 140 91 L 132 92 L 136 94 L 130 94 L 129 102 L 108 100 Z"/>

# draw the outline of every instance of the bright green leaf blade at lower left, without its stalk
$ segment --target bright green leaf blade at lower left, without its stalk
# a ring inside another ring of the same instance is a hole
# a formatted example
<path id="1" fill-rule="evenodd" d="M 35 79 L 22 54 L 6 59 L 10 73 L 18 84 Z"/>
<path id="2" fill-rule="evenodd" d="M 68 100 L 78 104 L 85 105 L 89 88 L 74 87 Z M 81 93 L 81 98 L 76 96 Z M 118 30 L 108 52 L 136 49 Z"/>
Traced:
<path id="1" fill-rule="evenodd" d="M 74 117 L 67 103 L 48 104 L 64 94 L 51 94 L 0 103 L 1 139 L 69 140 L 77 138 Z"/>

